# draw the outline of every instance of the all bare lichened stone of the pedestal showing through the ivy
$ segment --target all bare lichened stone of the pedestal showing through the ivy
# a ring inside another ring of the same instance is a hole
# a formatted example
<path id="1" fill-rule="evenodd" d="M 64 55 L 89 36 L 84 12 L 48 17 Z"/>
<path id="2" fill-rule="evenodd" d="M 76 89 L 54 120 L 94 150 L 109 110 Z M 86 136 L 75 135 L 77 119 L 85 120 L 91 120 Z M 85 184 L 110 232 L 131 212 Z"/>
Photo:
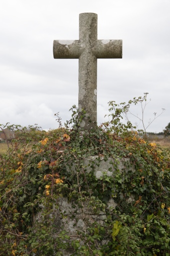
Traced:
<path id="1" fill-rule="evenodd" d="M 115 169 L 121 171 L 122 174 L 129 169 L 135 170 L 134 166 L 130 164 L 129 158 L 120 159 L 119 157 L 110 157 L 105 160 L 103 157 L 98 159 L 98 156 L 91 156 L 84 159 L 83 164 L 81 163 L 81 168 L 86 169 L 87 172 L 91 172 L 93 169 L 94 174 L 98 179 L 101 179 L 103 175 L 113 175 Z M 75 165 L 72 166 L 70 171 L 76 171 Z M 134 196 L 131 195 L 127 199 L 127 202 L 132 203 L 134 200 Z M 80 203 L 78 206 L 78 204 L 75 204 L 74 200 L 68 201 L 67 198 L 59 195 L 58 199 L 53 203 L 53 207 L 48 215 L 48 223 L 51 223 L 51 226 L 53 226 L 52 235 L 57 237 L 60 235 L 60 232 L 64 230 L 70 237 L 69 241 L 78 239 L 80 244 L 83 245 L 83 240 L 81 240 L 80 234 L 82 232 L 86 233 L 88 228 L 91 227 L 95 221 L 105 227 L 107 222 L 106 212 L 107 210 L 112 211 L 115 209 L 118 205 L 117 202 L 114 201 L 114 198 L 110 198 L 108 202 L 106 202 L 105 208 L 100 208 L 96 211 L 97 204 L 91 204 L 89 201 L 90 197 L 89 199 L 83 200 L 82 204 Z M 39 212 L 34 216 L 35 229 L 38 223 L 41 224 L 46 221 L 43 214 L 44 210 L 46 210 L 45 205 L 41 203 L 39 205 Z M 66 240 L 63 240 L 62 242 L 66 242 Z M 107 240 L 101 241 L 102 244 L 107 242 Z M 61 251 L 65 256 L 74 253 L 72 247 L 67 250 L 61 249 Z"/>

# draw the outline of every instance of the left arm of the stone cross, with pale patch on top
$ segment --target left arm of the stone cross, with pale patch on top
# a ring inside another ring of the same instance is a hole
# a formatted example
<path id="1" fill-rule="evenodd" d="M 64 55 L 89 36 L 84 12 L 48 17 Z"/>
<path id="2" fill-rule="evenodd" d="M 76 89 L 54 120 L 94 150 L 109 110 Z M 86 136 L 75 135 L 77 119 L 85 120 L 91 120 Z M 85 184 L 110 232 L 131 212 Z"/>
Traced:
<path id="1" fill-rule="evenodd" d="M 84 48 L 80 40 L 54 40 L 54 58 L 79 58 Z"/>

